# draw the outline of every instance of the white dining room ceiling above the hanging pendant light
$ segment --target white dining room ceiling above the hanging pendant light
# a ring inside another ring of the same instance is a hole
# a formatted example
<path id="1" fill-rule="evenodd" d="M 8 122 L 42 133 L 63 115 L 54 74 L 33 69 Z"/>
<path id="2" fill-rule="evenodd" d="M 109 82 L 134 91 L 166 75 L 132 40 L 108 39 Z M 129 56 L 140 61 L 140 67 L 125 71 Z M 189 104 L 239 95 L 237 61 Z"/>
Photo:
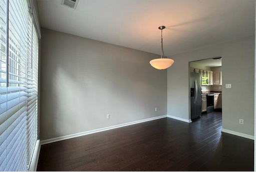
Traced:
<path id="1" fill-rule="evenodd" d="M 41 26 L 165 55 L 254 35 L 254 0 L 37 0 Z"/>

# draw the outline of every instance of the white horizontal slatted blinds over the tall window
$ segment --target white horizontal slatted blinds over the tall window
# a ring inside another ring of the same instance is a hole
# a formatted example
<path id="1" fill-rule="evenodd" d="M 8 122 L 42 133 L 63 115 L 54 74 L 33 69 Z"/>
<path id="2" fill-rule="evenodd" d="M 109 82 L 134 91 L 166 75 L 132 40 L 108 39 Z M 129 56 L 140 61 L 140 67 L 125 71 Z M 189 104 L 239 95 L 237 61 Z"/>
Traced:
<path id="1" fill-rule="evenodd" d="M 0 7 L 0 171 L 27 171 L 37 141 L 38 37 L 26 0 Z"/>

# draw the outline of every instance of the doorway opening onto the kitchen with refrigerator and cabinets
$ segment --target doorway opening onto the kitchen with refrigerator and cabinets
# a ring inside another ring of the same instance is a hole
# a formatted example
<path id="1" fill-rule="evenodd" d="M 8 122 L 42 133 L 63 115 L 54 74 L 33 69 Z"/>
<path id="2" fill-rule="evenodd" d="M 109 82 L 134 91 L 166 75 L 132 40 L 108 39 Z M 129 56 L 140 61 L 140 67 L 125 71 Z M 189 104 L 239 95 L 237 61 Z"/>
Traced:
<path id="1" fill-rule="evenodd" d="M 190 119 L 222 116 L 221 57 L 189 62 Z"/>

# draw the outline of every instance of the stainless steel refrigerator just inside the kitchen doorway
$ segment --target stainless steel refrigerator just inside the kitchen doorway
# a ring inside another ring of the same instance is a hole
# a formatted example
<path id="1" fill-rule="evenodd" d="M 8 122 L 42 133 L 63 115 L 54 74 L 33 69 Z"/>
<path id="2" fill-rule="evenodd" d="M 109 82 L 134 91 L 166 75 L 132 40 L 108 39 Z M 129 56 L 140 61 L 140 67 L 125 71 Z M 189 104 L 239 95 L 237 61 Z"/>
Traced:
<path id="1" fill-rule="evenodd" d="M 191 119 L 201 115 L 201 78 L 199 73 L 190 72 L 190 105 Z"/>

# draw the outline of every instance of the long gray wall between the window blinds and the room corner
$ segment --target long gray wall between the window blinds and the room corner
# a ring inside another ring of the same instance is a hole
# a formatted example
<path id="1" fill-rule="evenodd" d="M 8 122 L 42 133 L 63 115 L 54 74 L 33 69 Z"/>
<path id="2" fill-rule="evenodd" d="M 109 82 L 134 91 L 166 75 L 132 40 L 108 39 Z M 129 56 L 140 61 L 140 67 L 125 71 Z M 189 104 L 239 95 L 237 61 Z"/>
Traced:
<path id="1" fill-rule="evenodd" d="M 41 48 L 41 140 L 167 114 L 159 55 L 44 28 Z"/>

